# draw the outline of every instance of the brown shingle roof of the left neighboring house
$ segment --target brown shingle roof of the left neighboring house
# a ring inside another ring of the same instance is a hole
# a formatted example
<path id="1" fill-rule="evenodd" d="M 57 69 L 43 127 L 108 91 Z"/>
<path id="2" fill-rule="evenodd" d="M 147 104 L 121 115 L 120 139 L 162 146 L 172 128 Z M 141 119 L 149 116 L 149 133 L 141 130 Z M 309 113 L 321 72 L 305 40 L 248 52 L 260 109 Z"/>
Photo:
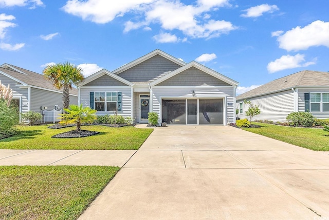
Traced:
<path id="1" fill-rule="evenodd" d="M 30 70 L 16 67 L 10 64 L 3 64 L 0 66 L 0 73 L 13 79 L 17 83 L 21 83 L 22 86 L 32 86 L 35 88 L 48 89 L 56 92 L 63 92 L 55 88 L 51 82 L 47 81 L 42 74 L 32 72 Z M 14 88 L 13 85 L 11 88 Z M 70 94 L 78 95 L 78 90 L 72 88 Z"/>

